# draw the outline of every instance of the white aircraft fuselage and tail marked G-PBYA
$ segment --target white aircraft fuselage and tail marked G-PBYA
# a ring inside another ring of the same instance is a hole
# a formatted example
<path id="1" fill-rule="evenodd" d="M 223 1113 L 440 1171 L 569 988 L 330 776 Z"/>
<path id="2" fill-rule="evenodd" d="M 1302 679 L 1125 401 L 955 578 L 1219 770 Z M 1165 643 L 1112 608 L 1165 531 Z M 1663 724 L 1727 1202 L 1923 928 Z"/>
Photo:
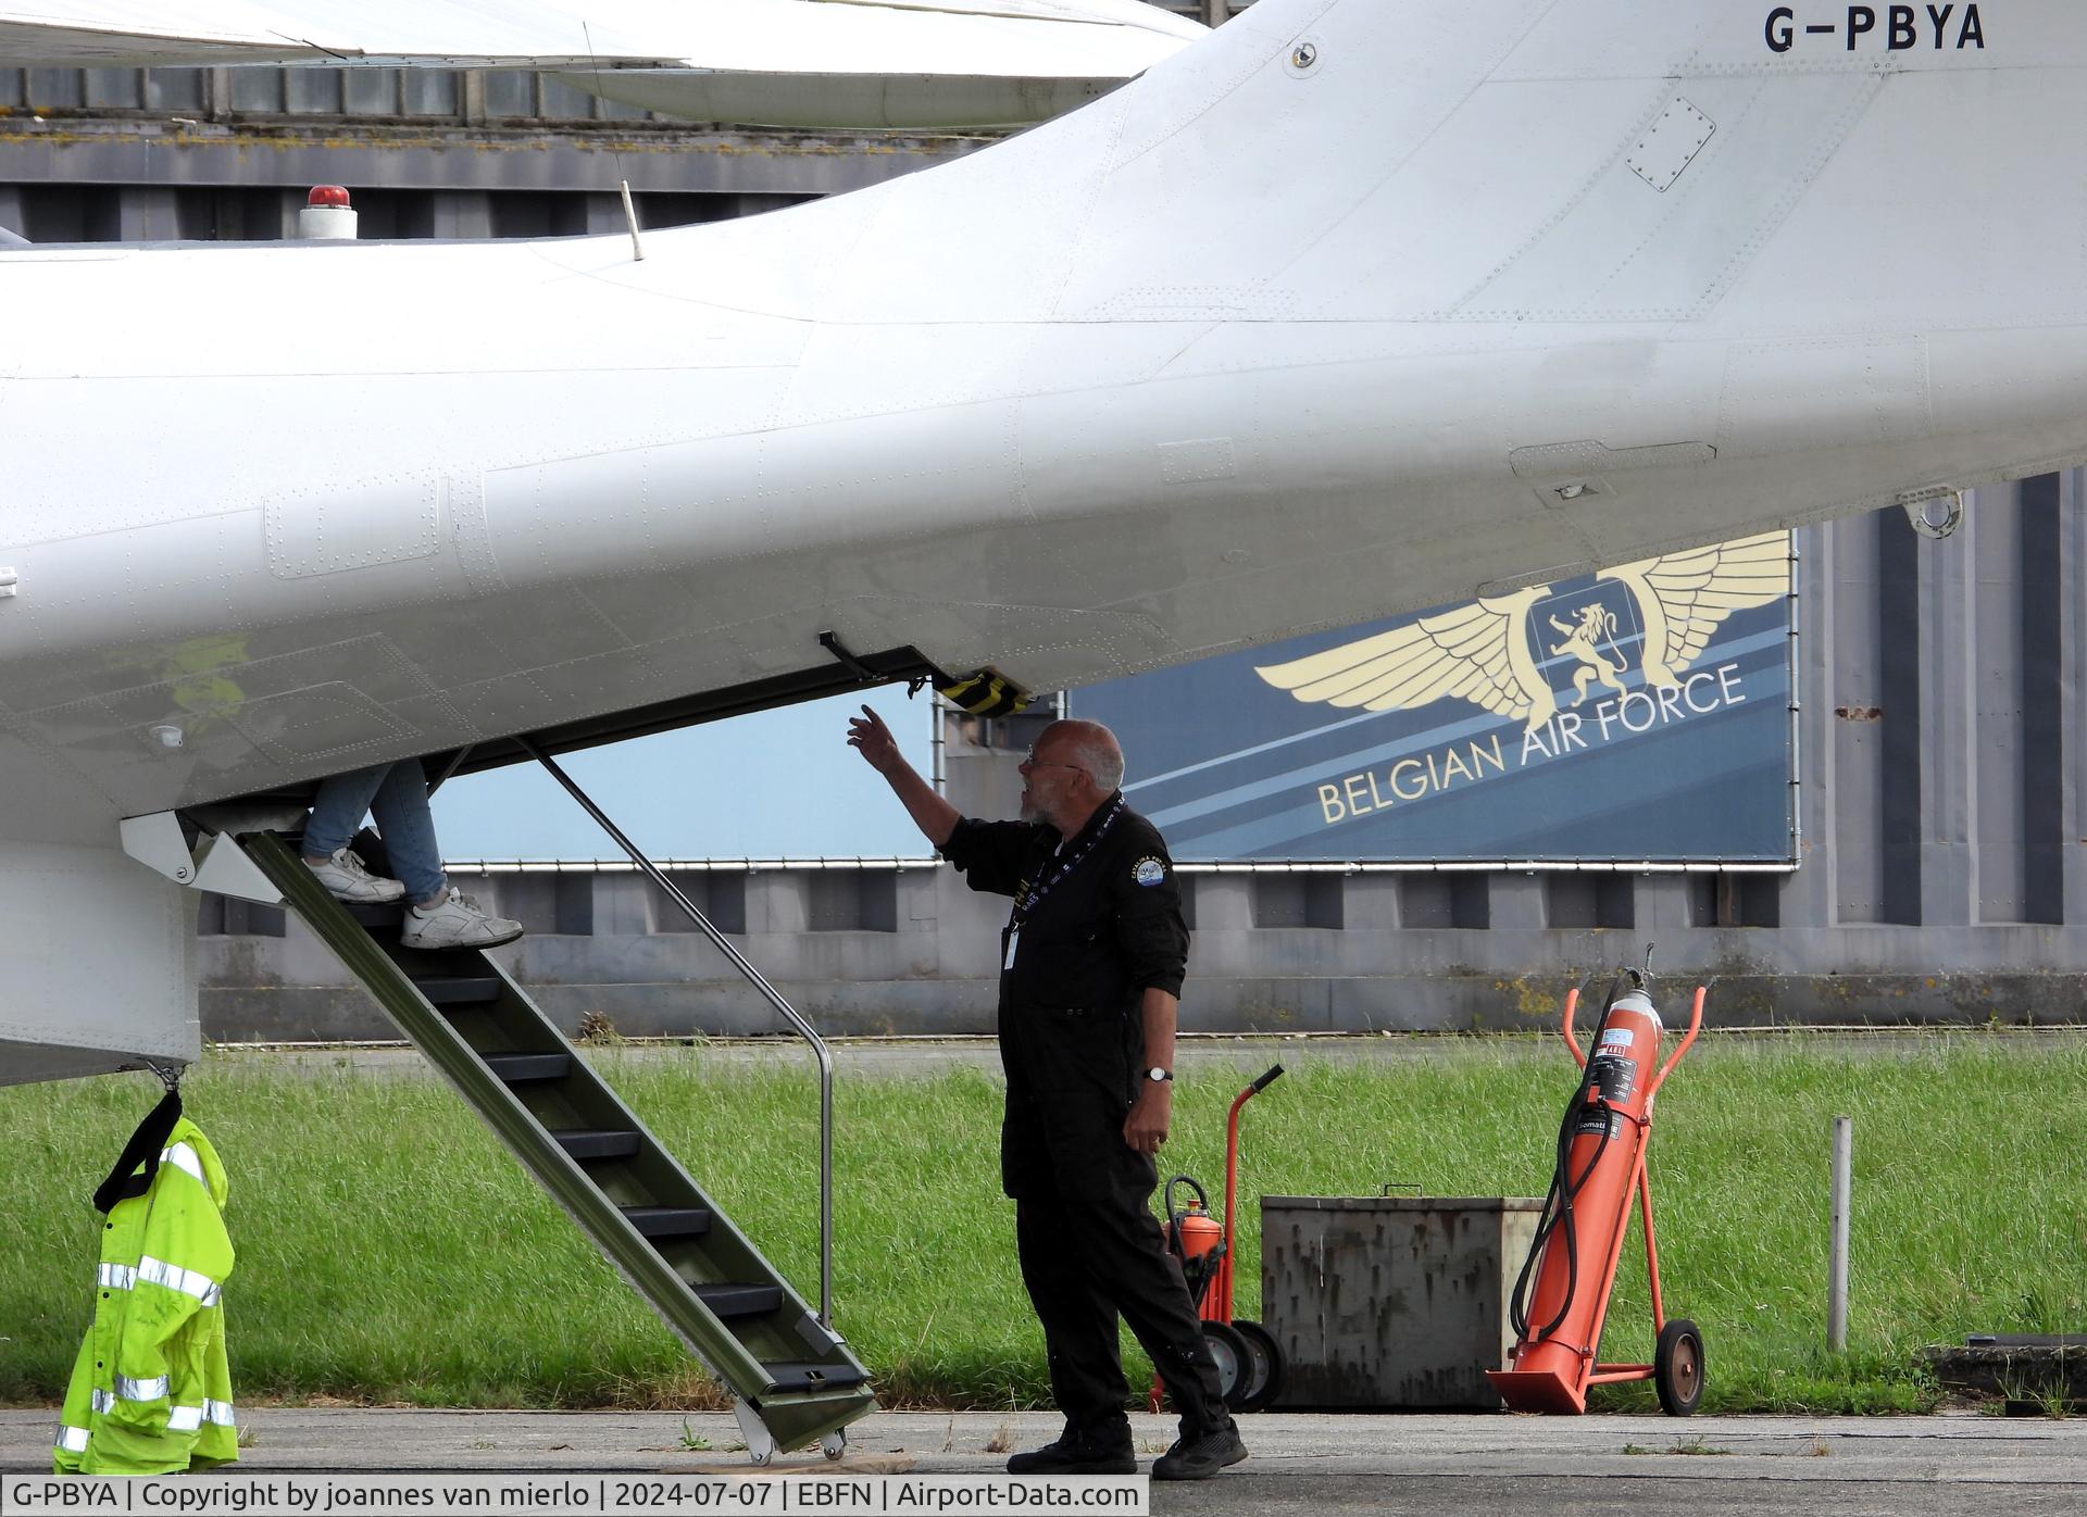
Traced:
<path id="1" fill-rule="evenodd" d="M 1258 0 L 1171 48 L 643 259 L 0 257 L 0 1081 L 196 1056 L 194 897 L 125 820 L 2087 461 L 2072 0 Z"/>

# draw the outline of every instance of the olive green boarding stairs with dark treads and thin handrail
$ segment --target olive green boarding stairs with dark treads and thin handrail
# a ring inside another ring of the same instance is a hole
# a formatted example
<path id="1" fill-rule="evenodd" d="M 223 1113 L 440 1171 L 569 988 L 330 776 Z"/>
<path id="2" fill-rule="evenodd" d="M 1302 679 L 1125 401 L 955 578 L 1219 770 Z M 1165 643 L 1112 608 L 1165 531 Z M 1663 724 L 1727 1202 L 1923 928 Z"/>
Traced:
<path id="1" fill-rule="evenodd" d="M 831 1179 L 822 1194 L 824 1313 L 814 1313 L 499 964 L 476 949 L 403 947 L 399 906 L 334 899 L 273 833 L 246 833 L 240 843 L 689 1352 L 730 1386 L 753 1463 L 812 1442 L 839 1459 L 841 1429 L 877 1400 L 868 1373 L 831 1329 Z M 831 1177 L 831 1060 L 816 1035 L 814 1048 L 826 1075 Z"/>

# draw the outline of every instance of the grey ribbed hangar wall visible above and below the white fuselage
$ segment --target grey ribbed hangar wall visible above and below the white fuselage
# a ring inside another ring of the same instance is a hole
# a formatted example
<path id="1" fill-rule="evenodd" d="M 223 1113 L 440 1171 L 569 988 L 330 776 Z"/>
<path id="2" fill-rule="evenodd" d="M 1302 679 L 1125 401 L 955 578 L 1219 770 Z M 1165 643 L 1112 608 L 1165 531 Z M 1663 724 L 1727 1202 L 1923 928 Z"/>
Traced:
<path id="1" fill-rule="evenodd" d="M 1219 0 L 1221 4 L 1223 0 Z M 1183 0 L 1177 8 L 1196 10 Z M 42 119 L 38 119 L 42 117 Z M 724 131 L 528 73 L 0 67 L 0 227 L 273 238 L 305 188 L 365 236 L 614 232 L 791 204 L 979 138 Z M 2079 472 L 1978 490 L 1933 543 L 1897 513 L 1799 534 L 1799 868 L 1210 866 L 1190 876 L 1198 1031 L 1517 1027 L 1642 956 L 1718 977 L 1724 1022 L 2074 1020 L 2087 989 L 2087 545 Z M 1213 714 L 1221 720 L 1221 714 Z M 1004 814 L 1033 728 L 950 720 L 952 795 Z M 1131 755 L 1135 770 L 1137 755 Z M 687 862 L 743 949 L 837 1033 L 987 1031 L 995 906 L 922 862 Z M 762 1031 L 624 866 L 470 866 L 576 1025 Z M 384 1035 L 275 914 L 202 912 L 213 1037 Z"/>

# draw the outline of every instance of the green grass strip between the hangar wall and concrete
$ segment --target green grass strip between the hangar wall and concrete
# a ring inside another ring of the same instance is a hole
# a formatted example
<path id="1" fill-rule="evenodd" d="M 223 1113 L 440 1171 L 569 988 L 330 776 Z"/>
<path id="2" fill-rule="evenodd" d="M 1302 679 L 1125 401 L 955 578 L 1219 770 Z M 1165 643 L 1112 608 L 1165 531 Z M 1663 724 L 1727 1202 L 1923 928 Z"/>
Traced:
<path id="1" fill-rule="evenodd" d="M 818 1290 L 810 1075 L 703 1050 L 597 1060 L 712 1196 Z M 1223 1181 L 1240 1079 L 1177 1098 L 1169 1166 Z M 1555 1041 L 1444 1039 L 1421 1058 L 1309 1064 L 1246 1110 L 1240 1315 L 1254 1317 L 1263 1191 L 1536 1196 L 1572 1091 Z M 1966 1331 L 2087 1321 L 2087 1045 L 1937 1033 L 1882 1048 L 1699 1045 L 1653 1137 L 1668 1310 L 1705 1338 L 1705 1411 L 1918 1411 L 1914 1352 Z M 0 1089 L 0 1400 L 54 1400 L 92 1304 L 88 1194 L 157 1089 Z M 593 1248 L 432 1079 L 209 1060 L 190 1114 L 232 1171 L 227 1292 L 244 1400 L 705 1406 L 714 1392 Z M 991 1079 L 843 1079 L 835 1310 L 887 1404 L 1048 1400 L 998 1194 Z M 1849 1352 L 1824 1350 L 1828 1121 L 1855 1118 Z M 1605 1358 L 1651 1354 L 1642 1248 L 1626 1246 Z M 1144 1383 L 1135 1361 L 1133 1383 Z M 1651 1390 L 1599 1392 L 1607 1408 Z"/>

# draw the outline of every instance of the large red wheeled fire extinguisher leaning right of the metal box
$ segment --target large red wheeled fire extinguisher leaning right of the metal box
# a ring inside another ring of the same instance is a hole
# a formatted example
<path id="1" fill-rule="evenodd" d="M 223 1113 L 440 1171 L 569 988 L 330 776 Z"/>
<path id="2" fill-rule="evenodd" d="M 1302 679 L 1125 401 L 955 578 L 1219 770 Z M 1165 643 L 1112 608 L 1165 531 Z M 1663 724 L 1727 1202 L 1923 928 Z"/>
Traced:
<path id="1" fill-rule="evenodd" d="M 1703 1027 L 1705 989 L 1697 987 L 1688 1033 L 1661 1064 L 1665 1029 L 1645 993 L 1645 977 L 1638 970 L 1628 974 L 1630 987 L 1609 1000 L 1601 1018 L 1592 1058 L 1580 1052 L 1572 1031 L 1580 991 L 1565 997 L 1561 1031 L 1574 1062 L 1586 1073 L 1565 1108 L 1551 1194 L 1515 1281 L 1509 1310 L 1515 1350 L 1507 1369 L 1486 1371 L 1509 1411 L 1582 1413 L 1588 1386 L 1626 1379 L 1655 1381 L 1661 1408 L 1674 1417 L 1693 1413 L 1703 1396 L 1703 1335 L 1690 1321 L 1668 1321 L 1659 1296 L 1659 1244 L 1645 1150 L 1653 1133 L 1653 1098 Z M 1615 1290 L 1632 1191 L 1645 1217 L 1645 1267 L 1659 1348 L 1651 1365 L 1601 1365 L 1594 1352 Z"/>

